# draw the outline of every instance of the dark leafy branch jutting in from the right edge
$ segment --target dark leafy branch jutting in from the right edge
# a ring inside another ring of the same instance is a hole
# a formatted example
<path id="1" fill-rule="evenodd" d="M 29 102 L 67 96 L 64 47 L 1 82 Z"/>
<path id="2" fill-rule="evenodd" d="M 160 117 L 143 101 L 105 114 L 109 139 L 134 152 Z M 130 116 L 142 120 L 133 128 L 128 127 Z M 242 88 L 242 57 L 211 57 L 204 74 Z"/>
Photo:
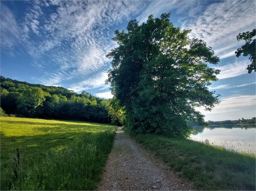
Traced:
<path id="1" fill-rule="evenodd" d="M 241 48 L 238 48 L 237 51 L 235 51 L 236 57 L 241 56 L 248 56 L 250 55 L 249 59 L 252 62 L 250 65 L 248 65 L 248 73 L 252 73 L 252 71 L 256 71 L 256 57 L 255 57 L 255 45 L 256 41 L 255 39 L 252 40 L 253 37 L 256 35 L 256 29 L 253 29 L 252 32 L 247 31 L 246 33 L 239 33 L 237 35 L 237 41 L 244 40 L 246 41 L 245 45 L 241 46 Z"/>

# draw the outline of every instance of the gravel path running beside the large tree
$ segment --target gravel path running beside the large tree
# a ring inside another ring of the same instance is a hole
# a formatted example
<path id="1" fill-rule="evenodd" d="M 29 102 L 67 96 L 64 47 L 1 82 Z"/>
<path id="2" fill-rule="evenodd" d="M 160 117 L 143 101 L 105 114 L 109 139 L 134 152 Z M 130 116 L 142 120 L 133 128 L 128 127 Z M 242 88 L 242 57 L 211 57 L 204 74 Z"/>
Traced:
<path id="1" fill-rule="evenodd" d="M 112 151 L 98 190 L 192 190 L 169 167 L 139 146 L 121 129 L 117 130 Z"/>

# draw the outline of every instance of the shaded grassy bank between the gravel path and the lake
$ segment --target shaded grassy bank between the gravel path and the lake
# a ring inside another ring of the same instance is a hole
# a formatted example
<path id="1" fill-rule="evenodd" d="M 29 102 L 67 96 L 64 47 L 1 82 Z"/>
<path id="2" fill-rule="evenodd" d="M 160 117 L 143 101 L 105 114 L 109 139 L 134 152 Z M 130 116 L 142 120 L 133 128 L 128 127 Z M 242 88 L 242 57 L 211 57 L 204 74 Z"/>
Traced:
<path id="1" fill-rule="evenodd" d="M 193 140 L 157 135 L 135 136 L 171 169 L 200 190 L 255 190 L 255 155 L 237 153 Z"/>

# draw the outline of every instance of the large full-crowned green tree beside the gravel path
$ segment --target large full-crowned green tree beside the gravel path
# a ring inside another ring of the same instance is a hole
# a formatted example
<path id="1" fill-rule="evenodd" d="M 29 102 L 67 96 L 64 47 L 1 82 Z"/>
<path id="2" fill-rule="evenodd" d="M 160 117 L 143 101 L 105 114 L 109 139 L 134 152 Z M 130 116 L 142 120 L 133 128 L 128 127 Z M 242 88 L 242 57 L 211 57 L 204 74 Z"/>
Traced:
<path id="1" fill-rule="evenodd" d="M 125 107 L 130 132 L 188 137 L 193 128 L 188 120 L 204 123 L 195 107 L 211 110 L 218 96 L 208 90 L 216 81 L 219 58 L 206 43 L 189 39 L 190 30 L 180 30 L 169 20 L 148 17 L 146 23 L 131 20 L 127 32 L 115 31 L 119 45 L 108 53 L 112 69 L 107 83 Z"/>

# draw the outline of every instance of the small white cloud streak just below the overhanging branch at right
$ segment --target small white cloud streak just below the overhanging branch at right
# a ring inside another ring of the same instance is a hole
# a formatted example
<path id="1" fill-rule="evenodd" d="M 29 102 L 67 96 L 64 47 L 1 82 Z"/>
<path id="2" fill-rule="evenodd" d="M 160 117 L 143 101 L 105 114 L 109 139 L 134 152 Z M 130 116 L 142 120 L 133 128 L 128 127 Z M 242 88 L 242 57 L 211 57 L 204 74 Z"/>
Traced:
<path id="1" fill-rule="evenodd" d="M 219 79 L 225 79 L 230 77 L 236 77 L 248 73 L 247 71 L 248 61 L 241 61 L 231 64 L 226 64 L 224 66 L 216 67 L 215 69 L 221 70 L 217 75 Z"/>

